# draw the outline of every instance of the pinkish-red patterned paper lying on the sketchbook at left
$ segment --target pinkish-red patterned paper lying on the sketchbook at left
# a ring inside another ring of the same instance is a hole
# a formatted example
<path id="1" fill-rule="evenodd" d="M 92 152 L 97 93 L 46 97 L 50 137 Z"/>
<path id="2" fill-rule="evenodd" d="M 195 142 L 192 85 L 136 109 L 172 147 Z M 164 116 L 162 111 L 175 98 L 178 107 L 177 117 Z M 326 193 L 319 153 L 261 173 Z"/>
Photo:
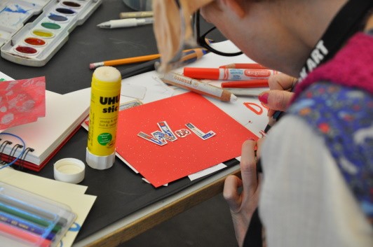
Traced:
<path id="1" fill-rule="evenodd" d="M 45 115 L 45 77 L 0 82 L 0 129 L 35 122 Z"/>

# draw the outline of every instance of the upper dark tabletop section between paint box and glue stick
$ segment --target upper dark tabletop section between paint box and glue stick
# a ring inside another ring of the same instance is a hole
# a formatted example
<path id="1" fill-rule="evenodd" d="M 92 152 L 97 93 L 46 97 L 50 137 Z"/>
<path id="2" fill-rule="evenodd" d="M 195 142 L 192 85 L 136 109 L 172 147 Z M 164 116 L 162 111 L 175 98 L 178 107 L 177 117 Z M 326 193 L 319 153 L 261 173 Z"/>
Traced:
<path id="1" fill-rule="evenodd" d="M 46 76 L 46 89 L 60 94 L 90 87 L 90 63 L 158 53 L 151 24 L 118 29 L 96 27 L 128 11 L 134 10 L 122 0 L 103 0 L 86 22 L 71 31 L 68 41 L 45 66 L 24 66 L 1 57 L 0 70 L 14 79 Z M 117 67 L 129 66 L 133 65 Z"/>

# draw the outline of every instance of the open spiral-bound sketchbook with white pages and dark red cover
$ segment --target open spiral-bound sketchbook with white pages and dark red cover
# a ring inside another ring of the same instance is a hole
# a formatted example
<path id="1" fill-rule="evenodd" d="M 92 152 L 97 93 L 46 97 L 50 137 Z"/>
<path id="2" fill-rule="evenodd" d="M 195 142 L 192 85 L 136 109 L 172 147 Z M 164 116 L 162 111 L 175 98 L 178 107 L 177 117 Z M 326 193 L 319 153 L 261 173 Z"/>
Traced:
<path id="1" fill-rule="evenodd" d="M 40 171 L 79 129 L 88 116 L 89 105 L 90 88 L 68 94 L 46 91 L 44 118 L 3 130 L 25 141 L 25 153 L 15 164 Z M 0 134 L 0 139 L 0 160 L 8 163 L 20 155 L 19 139 L 6 134 Z"/>

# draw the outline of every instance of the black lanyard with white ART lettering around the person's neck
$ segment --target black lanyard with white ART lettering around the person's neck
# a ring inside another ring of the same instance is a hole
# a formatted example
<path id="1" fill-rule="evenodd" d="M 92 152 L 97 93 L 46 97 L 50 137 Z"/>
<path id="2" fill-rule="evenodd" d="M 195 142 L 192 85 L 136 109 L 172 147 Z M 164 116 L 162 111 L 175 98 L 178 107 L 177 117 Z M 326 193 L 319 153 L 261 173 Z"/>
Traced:
<path id="1" fill-rule="evenodd" d="M 330 22 L 306 59 L 299 73 L 299 80 L 306 78 L 313 69 L 333 57 L 348 38 L 360 31 L 363 28 L 363 20 L 371 8 L 373 8 L 372 0 L 348 1 Z"/>

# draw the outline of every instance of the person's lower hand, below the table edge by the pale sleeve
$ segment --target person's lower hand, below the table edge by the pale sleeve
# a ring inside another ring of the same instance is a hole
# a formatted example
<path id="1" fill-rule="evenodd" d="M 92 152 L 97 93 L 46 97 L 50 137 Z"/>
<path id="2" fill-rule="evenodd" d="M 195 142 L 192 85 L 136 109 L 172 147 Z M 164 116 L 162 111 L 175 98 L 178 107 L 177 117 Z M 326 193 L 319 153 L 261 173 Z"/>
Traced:
<path id="1" fill-rule="evenodd" d="M 257 176 L 257 158 L 260 156 L 262 141 L 263 139 L 258 141 L 249 139 L 243 143 L 240 161 L 241 178 L 231 175 L 226 178 L 224 183 L 223 196 L 231 211 L 239 246 L 243 245 L 252 214 L 257 209 L 259 202 L 262 175 L 259 174 L 259 178 Z M 255 157 L 255 146 L 257 146 L 257 158 Z"/>

